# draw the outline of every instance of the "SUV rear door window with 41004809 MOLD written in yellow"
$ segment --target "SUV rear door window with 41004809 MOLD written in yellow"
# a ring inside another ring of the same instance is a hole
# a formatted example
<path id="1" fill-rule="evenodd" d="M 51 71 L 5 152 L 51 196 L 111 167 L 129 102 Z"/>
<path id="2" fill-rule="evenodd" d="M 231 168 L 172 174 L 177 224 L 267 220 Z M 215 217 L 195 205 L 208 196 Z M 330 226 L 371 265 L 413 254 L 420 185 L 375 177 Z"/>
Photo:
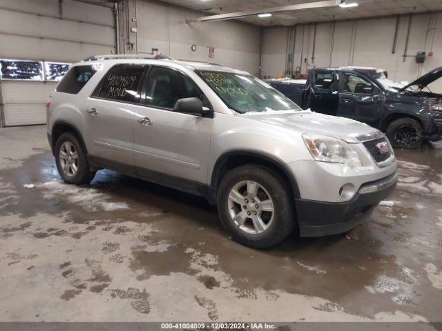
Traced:
<path id="1" fill-rule="evenodd" d="M 102 82 L 93 93 L 94 97 L 136 103 L 140 99 L 138 90 L 145 65 L 117 64 L 108 71 Z"/>

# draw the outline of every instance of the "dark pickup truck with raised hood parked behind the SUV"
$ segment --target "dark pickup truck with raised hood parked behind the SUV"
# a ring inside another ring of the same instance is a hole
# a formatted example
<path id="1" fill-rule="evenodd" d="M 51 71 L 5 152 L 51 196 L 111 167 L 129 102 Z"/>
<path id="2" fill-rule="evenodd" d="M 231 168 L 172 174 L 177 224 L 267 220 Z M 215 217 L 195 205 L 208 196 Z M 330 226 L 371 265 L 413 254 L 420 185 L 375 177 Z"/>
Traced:
<path id="1" fill-rule="evenodd" d="M 378 128 L 396 148 L 419 148 L 424 140 L 442 140 L 442 94 L 424 91 L 442 77 L 442 67 L 401 88 L 376 77 L 370 70 L 324 68 L 309 70 L 307 81 L 269 79 L 267 83 L 303 109 Z"/>

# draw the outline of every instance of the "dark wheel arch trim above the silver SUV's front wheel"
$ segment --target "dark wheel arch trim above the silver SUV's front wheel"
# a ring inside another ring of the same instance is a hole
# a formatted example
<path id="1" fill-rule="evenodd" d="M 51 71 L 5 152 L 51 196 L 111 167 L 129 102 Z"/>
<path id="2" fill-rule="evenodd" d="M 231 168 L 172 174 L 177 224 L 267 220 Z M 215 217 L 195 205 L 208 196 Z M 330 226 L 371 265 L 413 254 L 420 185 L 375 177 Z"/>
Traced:
<path id="1" fill-rule="evenodd" d="M 287 165 L 276 159 L 276 157 L 262 152 L 250 150 L 231 150 L 222 154 L 215 162 L 215 166 L 213 167 L 211 175 L 211 187 L 214 191 L 214 201 L 216 201 L 216 192 L 223 175 L 227 174 L 227 172 L 233 168 L 248 163 L 265 165 L 271 170 L 278 172 L 280 175 L 282 175 L 282 177 L 287 179 L 293 197 L 300 198 L 300 192 L 295 177 L 293 174 L 291 174 Z"/>

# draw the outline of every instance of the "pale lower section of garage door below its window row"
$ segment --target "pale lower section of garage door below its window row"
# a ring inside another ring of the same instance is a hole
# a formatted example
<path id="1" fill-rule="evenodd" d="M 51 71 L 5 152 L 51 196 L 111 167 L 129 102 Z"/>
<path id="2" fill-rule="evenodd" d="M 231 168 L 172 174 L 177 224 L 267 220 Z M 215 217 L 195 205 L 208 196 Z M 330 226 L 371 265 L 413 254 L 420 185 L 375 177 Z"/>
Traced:
<path id="1" fill-rule="evenodd" d="M 5 126 L 46 123 L 46 102 L 57 83 L 41 81 L 2 81 Z"/>

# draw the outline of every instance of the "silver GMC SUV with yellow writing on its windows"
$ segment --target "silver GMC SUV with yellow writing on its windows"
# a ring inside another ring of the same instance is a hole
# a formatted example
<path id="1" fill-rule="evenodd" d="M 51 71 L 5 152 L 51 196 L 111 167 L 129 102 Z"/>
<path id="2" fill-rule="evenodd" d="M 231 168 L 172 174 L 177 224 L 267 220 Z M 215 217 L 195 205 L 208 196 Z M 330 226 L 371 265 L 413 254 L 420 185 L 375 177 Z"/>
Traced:
<path id="1" fill-rule="evenodd" d="M 67 183 L 109 168 L 200 195 L 253 248 L 354 228 L 397 181 L 378 130 L 302 110 L 247 72 L 162 56 L 73 65 L 50 94 L 48 139 Z"/>

